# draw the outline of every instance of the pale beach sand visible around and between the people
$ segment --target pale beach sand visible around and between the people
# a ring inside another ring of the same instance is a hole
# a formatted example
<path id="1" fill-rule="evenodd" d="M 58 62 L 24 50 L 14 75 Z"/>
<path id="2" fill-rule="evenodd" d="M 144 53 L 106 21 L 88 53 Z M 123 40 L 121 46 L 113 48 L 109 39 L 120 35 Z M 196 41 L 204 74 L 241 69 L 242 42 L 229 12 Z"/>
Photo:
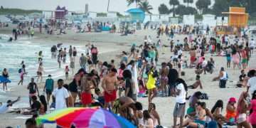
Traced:
<path id="1" fill-rule="evenodd" d="M 11 34 L 11 27 L 9 28 L 0 28 L 0 34 Z M 57 43 L 63 43 L 65 46 L 76 46 L 80 49 L 85 49 L 85 44 L 91 43 L 94 44 L 98 50 L 100 51 L 99 60 L 105 61 L 107 60 L 110 62 L 110 60 L 114 59 L 116 62 L 118 62 L 117 55 L 119 55 L 123 50 L 129 51 L 130 46 L 132 43 L 136 43 L 137 46 L 143 43 L 144 36 L 151 36 L 153 39 L 153 43 L 156 42 L 156 31 L 153 30 L 142 30 L 137 31 L 133 35 L 129 36 L 120 36 L 119 33 L 75 33 L 72 30 L 68 31 L 68 34 L 65 35 L 48 35 L 48 34 L 40 34 L 36 32 L 35 38 L 27 39 L 28 41 L 31 41 L 31 45 L 33 44 L 51 44 L 56 45 Z M 175 40 L 179 39 L 180 41 L 183 40 L 186 36 L 184 35 L 177 35 L 175 37 Z M 161 36 L 161 41 L 164 45 L 169 46 L 169 41 L 167 40 L 166 36 Z M 14 42 L 13 42 L 14 43 Z M 50 49 L 49 49 L 50 50 Z M 85 51 L 85 50 L 84 50 Z M 78 52 L 78 56 L 80 56 L 80 53 L 82 51 Z M 163 47 L 161 48 L 161 53 L 159 54 L 159 64 L 161 62 L 166 62 L 170 60 L 170 56 L 173 55 L 173 53 L 170 52 L 170 48 Z M 184 52 L 184 60 L 189 60 L 189 55 L 187 52 Z M 255 65 L 256 55 L 252 55 L 250 58 L 250 64 L 249 65 Z M 206 54 L 206 58 L 210 58 L 210 54 Z M 15 59 L 15 58 L 14 58 Z M 230 97 L 236 97 L 237 99 L 240 96 L 240 93 L 243 90 L 246 90 L 245 88 L 236 88 L 235 84 L 239 80 L 240 70 L 233 68 L 226 68 L 226 58 L 225 57 L 219 57 L 219 56 L 213 56 L 213 59 L 215 60 L 215 69 L 213 74 L 207 73 L 206 75 L 201 75 L 201 82 L 203 84 L 203 90 L 197 89 L 197 90 L 188 90 L 188 95 L 192 95 L 193 92 L 196 92 L 200 90 L 201 92 L 205 92 L 209 96 L 209 100 L 203 100 L 203 102 L 206 102 L 206 105 L 209 109 L 213 107 L 215 102 L 217 100 L 223 100 L 224 107 L 227 105 L 228 99 Z M 78 59 L 77 59 L 78 60 Z M 79 63 L 76 63 L 77 65 L 76 70 L 79 68 Z M 57 61 L 56 61 L 57 65 Z M 35 65 L 37 66 L 37 65 Z M 229 80 L 227 82 L 227 87 L 225 89 L 220 89 L 218 87 L 218 81 L 212 82 L 212 79 L 218 75 L 220 67 L 224 67 L 229 75 Z M 1 69 L 4 67 L 1 67 Z M 194 73 L 195 69 L 186 68 L 183 69 L 183 71 L 186 73 L 185 77 L 183 77 L 184 80 L 186 80 L 188 85 L 193 84 L 196 80 L 196 74 Z M 45 73 L 47 74 L 47 73 Z M 64 79 L 64 69 L 63 69 L 63 79 Z M 70 77 L 70 80 L 72 78 Z M 26 81 L 28 81 L 28 78 L 25 78 Z M 43 79 L 43 81 L 46 80 L 46 78 Z M 65 83 L 69 83 L 70 80 L 66 80 Z M 43 83 L 40 83 L 41 89 L 40 92 L 43 92 Z M 21 101 L 18 102 L 14 107 L 20 107 L 20 106 L 28 106 L 28 90 L 26 90 L 26 85 L 23 86 L 14 86 L 11 91 L 3 92 L 1 95 L 5 96 L 4 98 L 1 98 L 1 102 L 4 102 L 6 100 L 14 100 L 16 97 L 21 96 Z M 147 109 L 148 107 L 148 100 L 147 98 L 138 98 L 139 102 L 142 102 L 143 109 Z M 175 97 L 156 97 L 152 101 L 156 104 L 156 110 L 160 114 L 161 118 L 161 124 L 165 127 L 171 127 L 173 125 L 173 111 L 174 111 L 174 105 L 175 105 Z M 187 107 L 188 105 L 186 105 Z M 225 109 L 223 110 L 223 114 L 225 114 Z M 14 113 L 7 113 L 7 114 L 1 114 L 0 116 L 0 128 L 4 128 L 7 126 L 16 127 L 21 125 L 21 127 L 24 127 L 24 122 L 26 119 L 19 119 L 21 117 L 26 117 L 21 114 L 14 114 Z M 18 118 L 18 119 L 17 119 Z M 55 125 L 49 125 L 46 124 L 46 127 L 55 127 Z"/>

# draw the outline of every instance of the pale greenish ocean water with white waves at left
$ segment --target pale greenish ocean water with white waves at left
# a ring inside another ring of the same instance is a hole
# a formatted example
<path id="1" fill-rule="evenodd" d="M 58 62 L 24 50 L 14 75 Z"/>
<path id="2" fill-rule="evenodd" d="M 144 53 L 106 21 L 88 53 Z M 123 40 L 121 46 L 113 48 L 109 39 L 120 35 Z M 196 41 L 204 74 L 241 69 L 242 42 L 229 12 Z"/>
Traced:
<path id="1" fill-rule="evenodd" d="M 1 36 L 1 35 L 0 35 Z M 64 67 L 69 65 L 69 57 L 67 56 L 67 63 L 62 63 L 62 68 L 58 68 L 57 60 L 51 59 L 50 48 L 55 45 L 45 45 L 45 43 L 32 43 L 29 39 L 23 38 L 18 41 L 8 42 L 7 36 L 1 36 L 0 39 L 0 71 L 4 68 L 9 71 L 9 85 L 18 85 L 20 75 L 18 69 L 21 68 L 21 61 L 24 60 L 26 65 L 27 75 L 24 77 L 23 85 L 27 85 L 31 78 L 36 79 L 36 72 L 38 70 L 38 52 L 43 51 L 43 81 L 47 76 L 52 75 L 53 79 L 64 78 Z M 62 46 L 68 48 L 68 46 Z M 80 49 L 80 48 L 79 48 Z M 1 90 L 1 87 L 0 87 Z"/>

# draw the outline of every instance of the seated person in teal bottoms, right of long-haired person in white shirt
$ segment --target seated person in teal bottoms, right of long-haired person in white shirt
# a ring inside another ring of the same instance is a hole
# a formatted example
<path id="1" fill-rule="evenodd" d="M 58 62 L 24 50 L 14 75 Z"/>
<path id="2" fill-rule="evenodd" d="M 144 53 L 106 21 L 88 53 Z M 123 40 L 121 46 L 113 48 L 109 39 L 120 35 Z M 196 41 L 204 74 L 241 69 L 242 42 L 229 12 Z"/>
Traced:
<path id="1" fill-rule="evenodd" d="M 194 119 L 187 119 L 183 127 L 195 127 L 195 128 L 203 128 L 206 127 L 206 103 L 205 102 L 197 102 L 196 103 L 196 116 Z"/>

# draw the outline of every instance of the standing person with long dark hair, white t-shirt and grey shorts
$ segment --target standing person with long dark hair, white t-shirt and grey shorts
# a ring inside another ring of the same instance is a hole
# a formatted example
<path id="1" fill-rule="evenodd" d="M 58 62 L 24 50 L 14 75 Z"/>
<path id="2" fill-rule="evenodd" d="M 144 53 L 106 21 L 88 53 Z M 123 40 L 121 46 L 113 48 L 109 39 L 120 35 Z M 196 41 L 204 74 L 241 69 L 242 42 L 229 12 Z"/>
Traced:
<path id="1" fill-rule="evenodd" d="M 180 119 L 180 127 L 183 126 L 183 117 L 185 115 L 186 107 L 186 83 L 181 78 L 176 80 L 177 87 L 175 89 L 176 105 L 174 107 L 174 127 L 176 127 L 177 118 Z"/>

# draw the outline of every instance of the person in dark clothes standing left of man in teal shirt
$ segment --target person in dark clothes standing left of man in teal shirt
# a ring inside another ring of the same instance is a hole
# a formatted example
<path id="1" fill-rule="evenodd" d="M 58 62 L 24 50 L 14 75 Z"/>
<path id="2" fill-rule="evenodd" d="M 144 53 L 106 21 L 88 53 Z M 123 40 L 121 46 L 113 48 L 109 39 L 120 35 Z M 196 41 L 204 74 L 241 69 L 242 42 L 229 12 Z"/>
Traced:
<path id="1" fill-rule="evenodd" d="M 39 97 L 38 86 L 36 85 L 34 78 L 31 78 L 31 82 L 29 82 L 27 89 L 29 90 L 29 105 L 31 105 L 31 97 L 36 96 L 36 92 L 38 93 Z"/>

